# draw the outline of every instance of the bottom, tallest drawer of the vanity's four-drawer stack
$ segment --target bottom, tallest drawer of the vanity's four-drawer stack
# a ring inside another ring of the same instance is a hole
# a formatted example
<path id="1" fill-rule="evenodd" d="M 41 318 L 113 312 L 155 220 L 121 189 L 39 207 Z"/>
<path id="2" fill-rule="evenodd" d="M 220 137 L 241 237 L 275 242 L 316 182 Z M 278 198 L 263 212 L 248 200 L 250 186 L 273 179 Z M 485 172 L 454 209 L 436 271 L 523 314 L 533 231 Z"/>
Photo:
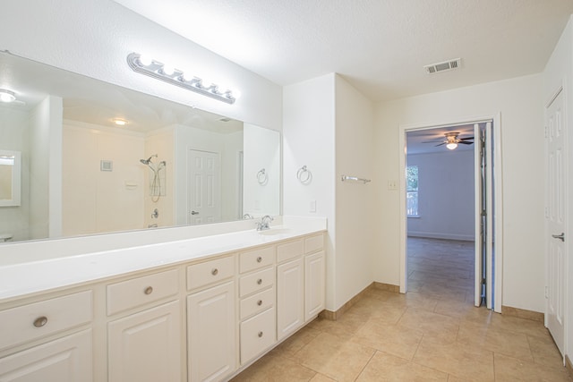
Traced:
<path id="1" fill-rule="evenodd" d="M 270 308 L 241 323 L 241 363 L 257 356 L 276 341 L 275 310 Z"/>

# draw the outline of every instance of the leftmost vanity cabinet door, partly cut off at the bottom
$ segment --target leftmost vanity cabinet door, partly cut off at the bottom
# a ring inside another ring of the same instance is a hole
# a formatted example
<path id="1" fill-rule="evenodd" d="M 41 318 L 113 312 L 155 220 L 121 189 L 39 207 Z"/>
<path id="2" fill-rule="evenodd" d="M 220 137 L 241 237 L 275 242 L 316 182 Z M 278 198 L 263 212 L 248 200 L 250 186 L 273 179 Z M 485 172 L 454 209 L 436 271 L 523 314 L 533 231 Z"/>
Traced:
<path id="1" fill-rule="evenodd" d="M 91 330 L 0 359 L 3 382 L 91 381 L 91 372 Z"/>

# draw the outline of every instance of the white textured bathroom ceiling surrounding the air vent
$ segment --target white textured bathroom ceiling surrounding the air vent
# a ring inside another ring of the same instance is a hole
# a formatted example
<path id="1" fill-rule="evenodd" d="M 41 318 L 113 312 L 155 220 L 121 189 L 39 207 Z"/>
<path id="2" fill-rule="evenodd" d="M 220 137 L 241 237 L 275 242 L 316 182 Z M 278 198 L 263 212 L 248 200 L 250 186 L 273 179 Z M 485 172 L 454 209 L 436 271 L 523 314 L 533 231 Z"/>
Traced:
<path id="1" fill-rule="evenodd" d="M 542 72 L 573 13 L 571 0 L 115 1 L 280 85 L 338 72 L 373 101 Z"/>

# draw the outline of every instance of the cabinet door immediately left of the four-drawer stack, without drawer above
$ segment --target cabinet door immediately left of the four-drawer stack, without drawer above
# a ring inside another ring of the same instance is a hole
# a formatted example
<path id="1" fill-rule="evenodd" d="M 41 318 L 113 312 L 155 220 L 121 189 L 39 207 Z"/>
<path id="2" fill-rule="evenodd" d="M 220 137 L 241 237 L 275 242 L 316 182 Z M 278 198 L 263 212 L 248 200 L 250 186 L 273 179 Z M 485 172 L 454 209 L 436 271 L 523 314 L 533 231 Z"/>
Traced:
<path id="1" fill-rule="evenodd" d="M 221 380 L 235 371 L 235 282 L 187 297 L 189 380 Z"/>

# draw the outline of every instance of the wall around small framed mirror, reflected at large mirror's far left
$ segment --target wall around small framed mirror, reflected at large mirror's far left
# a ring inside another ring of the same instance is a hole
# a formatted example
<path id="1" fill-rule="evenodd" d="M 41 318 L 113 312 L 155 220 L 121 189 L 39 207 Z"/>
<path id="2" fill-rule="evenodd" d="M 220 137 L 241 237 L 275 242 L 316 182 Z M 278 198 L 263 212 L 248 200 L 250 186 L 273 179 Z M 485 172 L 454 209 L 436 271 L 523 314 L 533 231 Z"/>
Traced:
<path id="1" fill-rule="evenodd" d="M 0 207 L 0 234 L 13 241 L 27 240 L 30 214 L 30 142 L 28 113 L 13 107 L 0 107 L 0 149 L 21 151 L 21 205 Z"/>

